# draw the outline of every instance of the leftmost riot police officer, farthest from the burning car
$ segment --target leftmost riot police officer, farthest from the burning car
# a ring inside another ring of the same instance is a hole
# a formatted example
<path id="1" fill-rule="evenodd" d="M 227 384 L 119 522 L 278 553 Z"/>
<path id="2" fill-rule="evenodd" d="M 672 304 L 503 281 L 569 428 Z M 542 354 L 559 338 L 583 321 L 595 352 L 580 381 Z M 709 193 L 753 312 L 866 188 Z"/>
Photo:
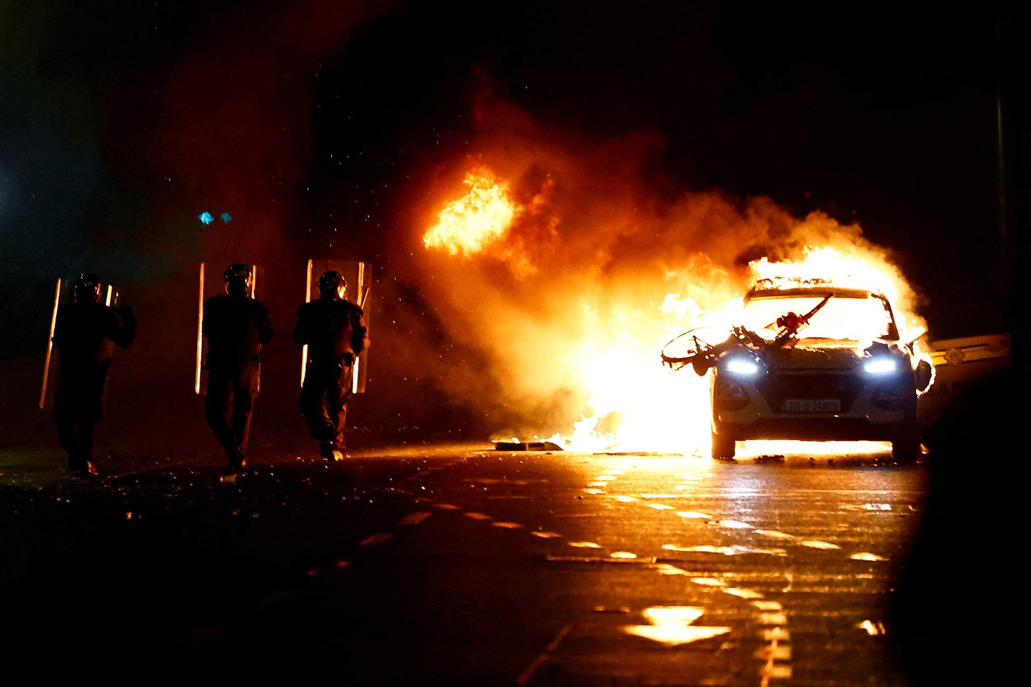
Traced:
<path id="1" fill-rule="evenodd" d="M 61 354 L 54 419 L 61 447 L 68 452 L 68 470 L 79 477 L 97 475 L 93 432 L 104 410 L 113 346 L 128 348 L 135 336 L 132 310 L 101 305 L 97 275 L 78 275 L 72 282 L 72 303 L 61 309 L 54 328 L 54 347 Z"/>

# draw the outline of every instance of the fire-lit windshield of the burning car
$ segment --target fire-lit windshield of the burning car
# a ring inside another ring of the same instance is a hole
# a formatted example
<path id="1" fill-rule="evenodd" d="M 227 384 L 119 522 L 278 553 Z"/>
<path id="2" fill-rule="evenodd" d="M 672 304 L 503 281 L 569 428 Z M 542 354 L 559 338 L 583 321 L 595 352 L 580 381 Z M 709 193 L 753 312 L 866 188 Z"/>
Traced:
<path id="1" fill-rule="evenodd" d="M 823 301 L 823 296 L 753 298 L 744 306 L 744 327 L 772 341 L 779 329 L 777 317 L 789 312 L 804 315 Z M 891 316 L 884 302 L 875 297 L 829 300 L 803 327 L 799 339 L 869 341 L 884 339 L 891 332 Z"/>

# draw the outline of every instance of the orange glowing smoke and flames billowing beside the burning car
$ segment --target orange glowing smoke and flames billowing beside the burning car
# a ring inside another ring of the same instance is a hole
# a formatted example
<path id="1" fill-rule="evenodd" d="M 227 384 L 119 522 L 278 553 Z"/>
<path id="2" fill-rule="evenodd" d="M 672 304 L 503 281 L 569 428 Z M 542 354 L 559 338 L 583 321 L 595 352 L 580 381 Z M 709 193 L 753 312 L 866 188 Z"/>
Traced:
<path id="1" fill-rule="evenodd" d="M 658 377 L 662 345 L 742 296 L 749 263 L 761 257 L 834 247 L 888 274 L 897 309 L 916 306 L 891 256 L 858 225 L 821 212 L 795 217 L 764 197 L 660 191 L 668 184 L 655 182 L 664 147 L 655 132 L 600 138 L 535 122 L 495 99 L 474 104 L 474 121 L 476 153 L 438 184 L 401 247 L 414 256 L 419 287 L 450 336 L 487 357 L 487 370 L 456 364 L 450 392 L 505 405 L 523 419 L 498 430 L 546 435 L 592 413 L 608 417 L 599 422 L 632 421 L 656 385 L 675 399 L 677 382 Z M 472 254 L 424 247 L 424 233 L 466 192 L 462 175 L 470 171 L 506 184 L 516 206 L 507 231 Z M 458 381 L 477 374 L 486 379 Z M 687 421 L 675 413 L 666 419 Z"/>

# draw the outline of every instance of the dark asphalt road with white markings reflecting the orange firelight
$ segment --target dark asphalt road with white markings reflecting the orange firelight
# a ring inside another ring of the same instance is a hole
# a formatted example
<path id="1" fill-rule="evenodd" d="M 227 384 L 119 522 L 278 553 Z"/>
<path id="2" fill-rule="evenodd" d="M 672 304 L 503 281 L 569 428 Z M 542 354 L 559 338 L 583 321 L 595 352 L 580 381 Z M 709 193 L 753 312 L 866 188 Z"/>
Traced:
<path id="1" fill-rule="evenodd" d="M 0 451 L 4 646 L 52 676 L 909 684 L 889 600 L 926 465 L 487 446 L 90 482 Z"/>

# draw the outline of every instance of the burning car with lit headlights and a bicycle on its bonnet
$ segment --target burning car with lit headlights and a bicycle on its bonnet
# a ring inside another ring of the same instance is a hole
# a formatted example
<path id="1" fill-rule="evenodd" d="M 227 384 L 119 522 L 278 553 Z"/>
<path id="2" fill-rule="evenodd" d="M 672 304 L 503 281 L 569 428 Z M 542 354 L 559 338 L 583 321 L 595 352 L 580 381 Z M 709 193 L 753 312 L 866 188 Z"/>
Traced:
<path id="1" fill-rule="evenodd" d="M 890 441 L 897 462 L 917 458 L 931 368 L 901 341 L 882 293 L 761 280 L 741 317 L 722 343 L 686 332 L 686 355 L 663 352 L 671 367 L 712 370 L 712 457 L 734 457 L 737 441 L 789 439 Z"/>

